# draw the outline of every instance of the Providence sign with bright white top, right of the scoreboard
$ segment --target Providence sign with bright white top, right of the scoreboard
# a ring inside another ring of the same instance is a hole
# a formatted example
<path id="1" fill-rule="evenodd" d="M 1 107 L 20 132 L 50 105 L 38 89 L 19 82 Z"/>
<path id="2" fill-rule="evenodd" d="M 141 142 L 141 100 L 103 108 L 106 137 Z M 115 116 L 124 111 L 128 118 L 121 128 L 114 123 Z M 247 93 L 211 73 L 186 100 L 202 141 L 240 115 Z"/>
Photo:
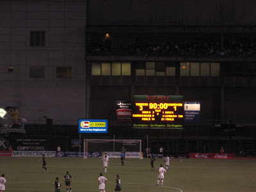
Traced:
<path id="1" fill-rule="evenodd" d="M 200 102 L 184 102 L 184 122 L 199 123 Z"/>

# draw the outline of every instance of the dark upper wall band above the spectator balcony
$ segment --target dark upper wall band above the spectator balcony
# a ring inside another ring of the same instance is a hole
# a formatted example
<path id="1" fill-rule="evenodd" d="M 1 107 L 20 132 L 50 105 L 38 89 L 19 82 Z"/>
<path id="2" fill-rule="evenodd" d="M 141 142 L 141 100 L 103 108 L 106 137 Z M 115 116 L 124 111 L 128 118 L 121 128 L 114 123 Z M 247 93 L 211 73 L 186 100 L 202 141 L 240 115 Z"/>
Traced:
<path id="1" fill-rule="evenodd" d="M 89 0 L 89 25 L 254 25 L 253 0 Z"/>

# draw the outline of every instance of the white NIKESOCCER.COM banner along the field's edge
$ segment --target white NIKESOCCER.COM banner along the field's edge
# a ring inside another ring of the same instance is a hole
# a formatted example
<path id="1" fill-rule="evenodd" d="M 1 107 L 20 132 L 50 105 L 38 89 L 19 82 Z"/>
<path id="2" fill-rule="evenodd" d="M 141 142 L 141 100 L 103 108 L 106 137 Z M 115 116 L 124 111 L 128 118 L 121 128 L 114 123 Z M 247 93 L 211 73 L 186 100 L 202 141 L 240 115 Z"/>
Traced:
<path id="1" fill-rule="evenodd" d="M 38 157 L 45 155 L 45 157 L 55 157 L 56 151 L 38 151 L 38 150 L 13 150 L 13 157 Z"/>

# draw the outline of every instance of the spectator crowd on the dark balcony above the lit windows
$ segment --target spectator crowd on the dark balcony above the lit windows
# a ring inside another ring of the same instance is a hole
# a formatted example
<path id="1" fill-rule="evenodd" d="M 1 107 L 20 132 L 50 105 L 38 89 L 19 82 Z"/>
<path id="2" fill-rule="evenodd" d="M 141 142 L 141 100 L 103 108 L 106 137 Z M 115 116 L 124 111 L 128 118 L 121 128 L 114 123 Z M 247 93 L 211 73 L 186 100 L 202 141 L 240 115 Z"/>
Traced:
<path id="1" fill-rule="evenodd" d="M 228 45 L 221 45 L 220 42 L 165 42 L 158 45 L 120 43 L 110 49 L 98 43 L 88 47 L 87 53 L 131 56 L 256 56 L 256 46 L 252 40 L 238 42 L 234 38 L 228 41 Z"/>

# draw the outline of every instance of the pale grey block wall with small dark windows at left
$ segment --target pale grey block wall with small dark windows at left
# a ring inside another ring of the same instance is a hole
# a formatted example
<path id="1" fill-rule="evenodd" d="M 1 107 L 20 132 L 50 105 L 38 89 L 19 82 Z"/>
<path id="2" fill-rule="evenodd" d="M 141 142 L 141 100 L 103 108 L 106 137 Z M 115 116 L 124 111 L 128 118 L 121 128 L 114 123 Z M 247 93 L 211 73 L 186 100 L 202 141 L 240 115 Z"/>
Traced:
<path id="1" fill-rule="evenodd" d="M 28 124 L 84 118 L 85 24 L 86 1 L 1 1 L 0 108 L 18 105 Z M 45 31 L 45 46 L 30 46 L 30 31 Z M 45 78 L 29 77 L 36 66 Z M 72 77 L 57 78 L 56 67 L 72 67 Z"/>

